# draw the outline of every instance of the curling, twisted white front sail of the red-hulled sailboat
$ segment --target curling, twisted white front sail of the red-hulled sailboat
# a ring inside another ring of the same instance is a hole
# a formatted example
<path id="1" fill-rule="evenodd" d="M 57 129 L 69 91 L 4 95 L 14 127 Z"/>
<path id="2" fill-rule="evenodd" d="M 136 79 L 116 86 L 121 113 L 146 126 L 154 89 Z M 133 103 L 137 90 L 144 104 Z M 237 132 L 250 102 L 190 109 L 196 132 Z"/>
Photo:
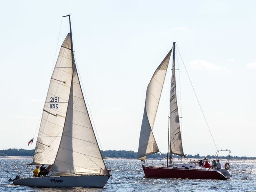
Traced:
<path id="1" fill-rule="evenodd" d="M 156 69 L 147 87 L 146 102 L 141 124 L 138 150 L 138 159 L 144 161 L 146 156 L 159 152 L 152 130 L 171 52 L 172 49 Z"/>

